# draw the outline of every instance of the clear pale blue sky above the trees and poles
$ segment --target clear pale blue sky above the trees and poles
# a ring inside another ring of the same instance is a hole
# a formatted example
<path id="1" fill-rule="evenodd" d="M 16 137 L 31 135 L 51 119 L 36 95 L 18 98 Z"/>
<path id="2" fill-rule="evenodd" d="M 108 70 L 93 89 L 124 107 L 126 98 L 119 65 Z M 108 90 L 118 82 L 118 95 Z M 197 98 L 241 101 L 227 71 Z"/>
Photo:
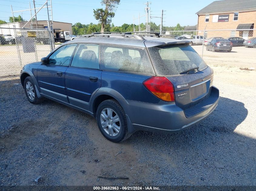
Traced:
<path id="1" fill-rule="evenodd" d="M 32 0 L 0 0 L 0 20 L 8 22 L 9 17 L 12 16 L 11 5 L 13 11 L 20 11 L 29 8 L 29 2 L 33 6 Z M 35 0 L 36 8 L 41 7 L 46 1 Z M 50 4 L 50 1 L 48 1 Z M 112 23 L 115 26 L 121 26 L 124 23 L 132 24 L 133 16 L 138 18 L 145 14 L 144 0 L 120 0 L 120 4 L 115 11 L 115 17 Z M 151 16 L 160 17 L 161 10 L 164 10 L 164 26 L 176 26 L 179 23 L 181 26 L 196 25 L 198 16 L 195 14 L 205 6 L 209 5 L 213 0 L 151 0 L 149 5 Z M 101 0 L 52 0 L 53 20 L 60 22 L 67 22 L 75 24 L 97 24 L 93 16 L 93 9 L 101 8 Z M 22 11 L 15 13 L 14 16 L 22 15 L 25 20 L 30 19 L 29 11 Z M 47 20 L 47 9 L 42 9 L 38 15 L 38 20 Z M 145 23 L 145 17 L 140 19 L 140 22 Z M 160 18 L 151 18 L 151 22 L 160 24 Z M 138 24 L 138 19 L 135 20 Z"/>

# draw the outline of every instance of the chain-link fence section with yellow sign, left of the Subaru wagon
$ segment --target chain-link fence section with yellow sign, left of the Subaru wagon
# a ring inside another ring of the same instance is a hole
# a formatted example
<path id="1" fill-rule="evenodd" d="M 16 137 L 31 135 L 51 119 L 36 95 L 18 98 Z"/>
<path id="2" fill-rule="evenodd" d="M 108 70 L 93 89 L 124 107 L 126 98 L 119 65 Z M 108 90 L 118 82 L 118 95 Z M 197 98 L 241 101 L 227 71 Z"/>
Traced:
<path id="1" fill-rule="evenodd" d="M 40 61 L 52 47 L 48 30 L 0 28 L 0 77 L 18 75 L 22 66 Z"/>

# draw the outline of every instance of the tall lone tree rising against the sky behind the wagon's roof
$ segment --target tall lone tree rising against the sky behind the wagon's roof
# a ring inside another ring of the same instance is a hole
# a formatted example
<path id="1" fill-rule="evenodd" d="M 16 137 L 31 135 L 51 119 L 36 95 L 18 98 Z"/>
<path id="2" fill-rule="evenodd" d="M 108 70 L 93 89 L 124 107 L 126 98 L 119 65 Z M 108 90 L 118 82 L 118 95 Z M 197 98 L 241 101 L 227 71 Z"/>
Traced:
<path id="1" fill-rule="evenodd" d="M 105 9 L 93 9 L 94 17 L 101 24 L 101 32 L 104 32 L 105 26 L 110 24 L 115 16 L 115 8 L 119 5 L 120 0 L 102 0 L 101 5 L 105 5 Z"/>

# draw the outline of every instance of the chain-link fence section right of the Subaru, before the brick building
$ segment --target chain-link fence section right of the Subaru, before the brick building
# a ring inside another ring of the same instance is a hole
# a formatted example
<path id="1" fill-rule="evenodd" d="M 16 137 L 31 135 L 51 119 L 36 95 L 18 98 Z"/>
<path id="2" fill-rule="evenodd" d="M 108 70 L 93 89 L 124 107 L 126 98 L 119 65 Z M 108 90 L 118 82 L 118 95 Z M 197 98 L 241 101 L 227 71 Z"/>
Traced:
<path id="1" fill-rule="evenodd" d="M 208 64 L 255 68 L 256 30 L 188 30 L 166 31 L 165 35 L 188 40 Z"/>

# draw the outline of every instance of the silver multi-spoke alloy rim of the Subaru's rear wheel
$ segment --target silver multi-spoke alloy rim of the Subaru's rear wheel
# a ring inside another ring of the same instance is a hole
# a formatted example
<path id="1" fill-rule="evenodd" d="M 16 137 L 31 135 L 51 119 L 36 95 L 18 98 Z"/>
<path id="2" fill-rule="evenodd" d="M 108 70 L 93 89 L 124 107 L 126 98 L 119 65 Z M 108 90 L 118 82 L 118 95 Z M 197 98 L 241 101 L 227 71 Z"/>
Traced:
<path id="1" fill-rule="evenodd" d="M 105 108 L 101 111 L 100 121 L 102 128 L 108 135 L 116 136 L 120 132 L 120 118 L 111 108 Z"/>

